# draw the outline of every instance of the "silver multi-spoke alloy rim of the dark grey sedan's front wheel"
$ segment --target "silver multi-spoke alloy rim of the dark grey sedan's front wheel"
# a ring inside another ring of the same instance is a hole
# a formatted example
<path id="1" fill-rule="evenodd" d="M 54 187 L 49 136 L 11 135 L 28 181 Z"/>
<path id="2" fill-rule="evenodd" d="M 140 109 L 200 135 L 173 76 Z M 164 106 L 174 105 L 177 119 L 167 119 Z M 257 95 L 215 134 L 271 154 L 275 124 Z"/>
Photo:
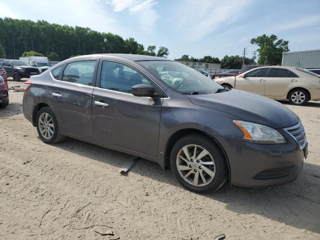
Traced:
<path id="1" fill-rule="evenodd" d="M 193 186 L 209 184 L 215 175 L 215 163 L 211 154 L 196 144 L 183 146 L 176 156 L 180 176 Z"/>

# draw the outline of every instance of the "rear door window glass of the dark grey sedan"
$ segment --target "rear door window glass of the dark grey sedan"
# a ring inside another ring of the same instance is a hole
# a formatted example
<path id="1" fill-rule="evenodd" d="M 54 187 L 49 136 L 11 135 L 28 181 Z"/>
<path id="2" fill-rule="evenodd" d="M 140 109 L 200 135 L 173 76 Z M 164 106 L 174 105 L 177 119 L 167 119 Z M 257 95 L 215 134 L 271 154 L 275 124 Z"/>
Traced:
<path id="1" fill-rule="evenodd" d="M 95 65 L 96 60 L 71 62 L 63 70 L 62 81 L 91 86 Z"/>

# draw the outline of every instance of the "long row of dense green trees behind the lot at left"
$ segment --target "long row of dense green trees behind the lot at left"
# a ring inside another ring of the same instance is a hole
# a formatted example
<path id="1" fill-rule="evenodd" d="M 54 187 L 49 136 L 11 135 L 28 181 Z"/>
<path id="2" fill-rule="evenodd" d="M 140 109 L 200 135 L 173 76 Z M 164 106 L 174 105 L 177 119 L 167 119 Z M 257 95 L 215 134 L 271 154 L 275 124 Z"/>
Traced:
<path id="1" fill-rule="evenodd" d="M 117 34 L 98 32 L 89 27 L 0 17 L 0 58 L 18 58 L 25 51 L 35 51 L 54 58 L 50 60 L 91 53 L 132 53 L 160 57 L 169 54 L 164 46 L 157 50 L 155 45 L 144 48 L 133 37 L 123 39 Z"/>

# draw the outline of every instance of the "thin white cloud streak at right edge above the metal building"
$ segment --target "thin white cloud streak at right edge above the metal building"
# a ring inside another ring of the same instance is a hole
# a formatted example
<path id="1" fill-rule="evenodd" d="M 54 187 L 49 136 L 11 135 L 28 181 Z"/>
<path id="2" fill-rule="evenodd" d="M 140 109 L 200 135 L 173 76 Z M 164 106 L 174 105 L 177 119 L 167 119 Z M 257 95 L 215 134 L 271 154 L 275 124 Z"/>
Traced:
<path id="1" fill-rule="evenodd" d="M 299 17 L 298 19 L 293 19 L 289 21 L 285 21 L 281 24 L 274 26 L 273 31 L 285 31 L 290 29 L 295 29 L 298 27 L 310 26 L 320 23 L 320 15 L 313 15 L 313 16 L 305 16 Z"/>

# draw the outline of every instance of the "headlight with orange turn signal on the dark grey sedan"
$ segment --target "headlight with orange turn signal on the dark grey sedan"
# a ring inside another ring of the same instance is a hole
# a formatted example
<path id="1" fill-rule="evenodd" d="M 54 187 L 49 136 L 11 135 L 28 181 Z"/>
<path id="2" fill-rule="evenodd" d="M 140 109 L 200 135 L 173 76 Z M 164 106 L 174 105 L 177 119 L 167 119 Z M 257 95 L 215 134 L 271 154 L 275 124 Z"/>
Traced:
<path id="1" fill-rule="evenodd" d="M 275 129 L 248 121 L 233 120 L 233 123 L 243 132 L 243 139 L 254 143 L 276 144 L 285 143 L 285 138 Z"/>

